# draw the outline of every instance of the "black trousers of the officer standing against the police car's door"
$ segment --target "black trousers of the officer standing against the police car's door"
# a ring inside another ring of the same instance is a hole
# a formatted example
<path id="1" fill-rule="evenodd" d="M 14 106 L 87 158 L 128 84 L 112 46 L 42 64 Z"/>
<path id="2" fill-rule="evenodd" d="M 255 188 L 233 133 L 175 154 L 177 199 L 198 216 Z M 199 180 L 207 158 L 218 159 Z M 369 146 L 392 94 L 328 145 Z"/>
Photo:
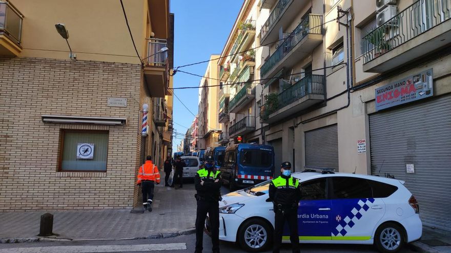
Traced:
<path id="1" fill-rule="evenodd" d="M 283 225 L 288 222 L 290 227 L 290 241 L 293 245 L 293 253 L 299 253 L 299 236 L 298 236 L 298 219 L 297 209 L 276 210 L 276 217 L 274 219 L 274 247 L 273 253 L 280 252 L 280 245 L 282 244 Z"/>

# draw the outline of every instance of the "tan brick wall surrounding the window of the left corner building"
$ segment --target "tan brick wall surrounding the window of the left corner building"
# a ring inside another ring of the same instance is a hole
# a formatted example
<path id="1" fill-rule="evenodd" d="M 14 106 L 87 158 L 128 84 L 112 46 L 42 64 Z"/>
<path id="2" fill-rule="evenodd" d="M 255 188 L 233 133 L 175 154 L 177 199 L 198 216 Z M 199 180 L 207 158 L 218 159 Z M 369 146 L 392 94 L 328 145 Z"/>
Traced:
<path id="1" fill-rule="evenodd" d="M 0 212 L 131 208 L 140 66 L 0 57 L 0 76 Z M 107 106 L 108 97 L 127 98 L 127 107 Z M 124 117 L 127 125 L 43 123 L 43 114 Z M 107 171 L 58 172 L 60 129 L 108 130 Z"/>

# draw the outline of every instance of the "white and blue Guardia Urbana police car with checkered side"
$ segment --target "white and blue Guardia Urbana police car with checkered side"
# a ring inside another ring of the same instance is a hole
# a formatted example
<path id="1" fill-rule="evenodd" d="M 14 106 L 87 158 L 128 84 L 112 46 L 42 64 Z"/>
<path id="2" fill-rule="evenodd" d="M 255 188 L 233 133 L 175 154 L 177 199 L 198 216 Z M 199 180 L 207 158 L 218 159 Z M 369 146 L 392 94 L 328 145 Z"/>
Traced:
<path id="1" fill-rule="evenodd" d="M 298 208 L 301 243 L 374 244 L 381 252 L 397 252 L 421 237 L 419 205 L 403 186 L 404 181 L 314 170 L 292 176 L 302 187 Z M 263 251 L 272 244 L 270 182 L 222 196 L 220 240 L 238 242 L 250 252 Z M 290 242 L 286 224 L 283 235 L 283 242 Z"/>

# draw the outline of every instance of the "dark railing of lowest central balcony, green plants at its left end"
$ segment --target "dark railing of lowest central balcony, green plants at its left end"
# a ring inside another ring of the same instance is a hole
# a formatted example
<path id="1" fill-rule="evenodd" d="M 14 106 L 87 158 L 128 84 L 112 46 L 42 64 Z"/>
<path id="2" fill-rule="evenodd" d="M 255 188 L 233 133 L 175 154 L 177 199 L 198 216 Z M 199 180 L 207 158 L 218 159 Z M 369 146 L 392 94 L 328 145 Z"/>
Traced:
<path id="1" fill-rule="evenodd" d="M 277 96 L 277 101 L 275 103 L 267 102 L 262 105 L 260 108 L 260 116 L 263 120 L 267 120 L 271 113 L 310 94 L 324 95 L 324 76 L 305 76 L 288 89 L 283 90 Z"/>

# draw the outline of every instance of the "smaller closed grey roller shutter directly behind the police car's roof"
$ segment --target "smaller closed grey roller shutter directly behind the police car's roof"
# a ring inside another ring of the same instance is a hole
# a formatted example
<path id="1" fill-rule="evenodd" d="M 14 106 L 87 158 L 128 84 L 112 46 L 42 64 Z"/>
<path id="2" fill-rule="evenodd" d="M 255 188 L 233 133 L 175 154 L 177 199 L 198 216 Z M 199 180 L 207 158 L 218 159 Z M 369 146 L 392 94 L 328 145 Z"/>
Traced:
<path id="1" fill-rule="evenodd" d="M 337 125 L 305 132 L 305 166 L 338 171 Z"/>

